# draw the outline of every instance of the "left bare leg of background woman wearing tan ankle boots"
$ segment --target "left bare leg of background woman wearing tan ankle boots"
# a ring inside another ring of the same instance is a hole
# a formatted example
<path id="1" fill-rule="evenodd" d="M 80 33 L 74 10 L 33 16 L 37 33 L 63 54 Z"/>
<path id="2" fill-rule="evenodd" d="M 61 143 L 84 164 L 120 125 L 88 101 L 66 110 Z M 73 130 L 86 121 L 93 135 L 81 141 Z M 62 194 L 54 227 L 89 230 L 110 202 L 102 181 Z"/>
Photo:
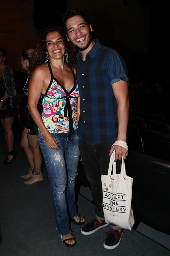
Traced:
<path id="1" fill-rule="evenodd" d="M 31 150 L 31 148 L 29 146 L 29 143 L 28 143 L 27 134 L 23 131 L 22 131 L 22 134 L 21 134 L 20 146 L 25 151 L 26 157 L 28 159 L 29 167 L 31 169 L 34 169 L 34 161 L 33 161 L 32 150 Z"/>

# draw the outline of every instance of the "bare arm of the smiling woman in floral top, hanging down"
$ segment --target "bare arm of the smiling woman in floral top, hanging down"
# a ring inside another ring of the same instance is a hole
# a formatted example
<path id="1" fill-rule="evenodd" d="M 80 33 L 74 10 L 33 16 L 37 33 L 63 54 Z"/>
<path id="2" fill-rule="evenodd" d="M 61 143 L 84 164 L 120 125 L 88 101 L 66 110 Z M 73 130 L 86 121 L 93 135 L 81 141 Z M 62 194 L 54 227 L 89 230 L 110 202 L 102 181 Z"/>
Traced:
<path id="1" fill-rule="evenodd" d="M 50 148 L 60 149 L 54 136 L 46 129 L 42 121 L 41 115 L 37 109 L 37 104 L 43 90 L 44 77 L 45 71 L 43 67 L 37 67 L 33 71 L 33 74 L 29 81 L 28 110 L 32 116 L 32 119 L 43 134 L 46 144 Z"/>

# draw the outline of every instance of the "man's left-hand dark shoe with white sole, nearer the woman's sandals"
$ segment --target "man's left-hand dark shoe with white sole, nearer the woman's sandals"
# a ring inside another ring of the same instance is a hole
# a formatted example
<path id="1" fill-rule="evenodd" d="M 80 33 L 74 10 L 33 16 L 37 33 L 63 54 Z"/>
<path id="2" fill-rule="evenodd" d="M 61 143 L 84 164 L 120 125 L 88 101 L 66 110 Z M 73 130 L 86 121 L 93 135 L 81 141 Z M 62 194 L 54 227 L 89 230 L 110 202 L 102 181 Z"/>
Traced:
<path id="1" fill-rule="evenodd" d="M 94 219 L 92 221 L 90 221 L 89 223 L 87 223 L 82 229 L 81 229 L 81 233 L 83 235 L 91 235 L 94 232 L 96 232 L 98 229 L 105 227 L 109 225 L 109 223 L 106 223 L 104 219 L 102 220 L 98 220 L 98 219 Z"/>

